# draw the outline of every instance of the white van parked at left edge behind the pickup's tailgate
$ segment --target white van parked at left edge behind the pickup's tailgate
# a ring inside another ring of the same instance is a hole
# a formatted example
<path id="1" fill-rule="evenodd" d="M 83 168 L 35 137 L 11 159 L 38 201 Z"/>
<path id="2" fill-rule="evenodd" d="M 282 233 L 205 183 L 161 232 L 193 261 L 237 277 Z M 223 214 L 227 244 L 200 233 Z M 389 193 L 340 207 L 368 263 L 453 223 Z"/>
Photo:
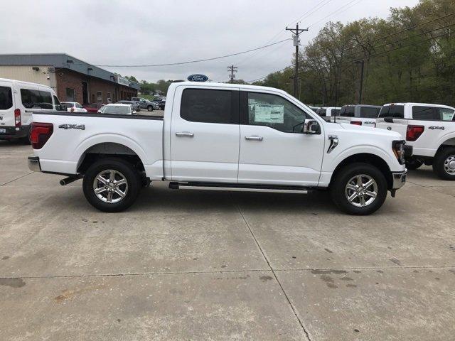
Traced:
<path id="1" fill-rule="evenodd" d="M 52 88 L 0 78 L 0 140 L 28 141 L 32 112 L 62 110 Z"/>

